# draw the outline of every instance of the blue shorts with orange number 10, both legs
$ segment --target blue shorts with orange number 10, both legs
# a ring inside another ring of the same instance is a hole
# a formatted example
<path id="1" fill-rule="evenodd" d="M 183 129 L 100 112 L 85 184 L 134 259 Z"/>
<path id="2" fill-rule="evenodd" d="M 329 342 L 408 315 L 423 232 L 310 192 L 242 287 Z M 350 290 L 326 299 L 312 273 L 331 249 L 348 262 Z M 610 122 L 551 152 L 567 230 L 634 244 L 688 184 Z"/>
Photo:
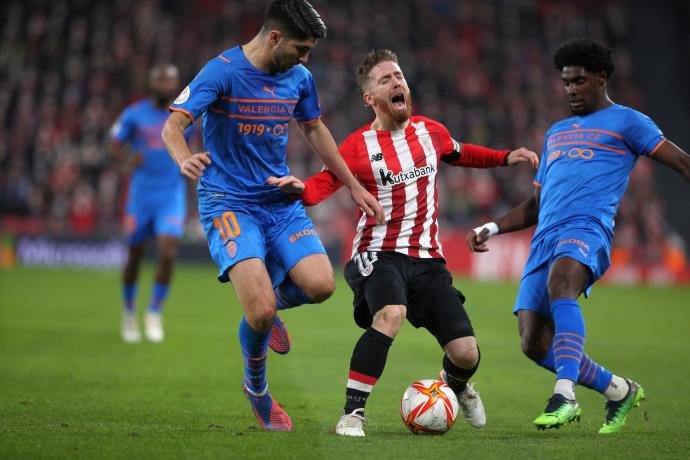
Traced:
<path id="1" fill-rule="evenodd" d="M 201 207 L 200 207 L 201 208 Z M 259 258 L 273 287 L 283 282 L 297 262 L 311 254 L 326 254 L 301 202 L 270 205 L 214 206 L 200 210 L 208 248 L 218 265 L 218 280 L 239 261 Z"/>

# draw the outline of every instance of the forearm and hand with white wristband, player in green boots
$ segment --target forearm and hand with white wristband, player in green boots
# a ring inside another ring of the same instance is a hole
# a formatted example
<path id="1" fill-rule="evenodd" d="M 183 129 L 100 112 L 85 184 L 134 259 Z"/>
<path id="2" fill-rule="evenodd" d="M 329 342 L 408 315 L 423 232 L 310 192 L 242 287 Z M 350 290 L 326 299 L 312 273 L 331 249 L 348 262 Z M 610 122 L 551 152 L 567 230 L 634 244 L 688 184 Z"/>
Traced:
<path id="1" fill-rule="evenodd" d="M 539 216 L 540 191 L 540 187 L 535 188 L 534 195 L 515 206 L 495 222 L 489 222 L 467 232 L 465 241 L 470 251 L 487 252 L 489 250 L 487 242 L 493 235 L 515 232 L 536 224 Z"/>

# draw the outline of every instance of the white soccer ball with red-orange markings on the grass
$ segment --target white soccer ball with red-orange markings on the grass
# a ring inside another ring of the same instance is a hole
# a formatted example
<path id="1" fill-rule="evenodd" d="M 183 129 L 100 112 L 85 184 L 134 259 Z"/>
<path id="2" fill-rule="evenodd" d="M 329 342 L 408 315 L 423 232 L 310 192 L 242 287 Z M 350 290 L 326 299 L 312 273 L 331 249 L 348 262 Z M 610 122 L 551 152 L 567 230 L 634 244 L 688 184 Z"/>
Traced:
<path id="1" fill-rule="evenodd" d="M 458 416 L 458 398 L 448 385 L 425 379 L 407 387 L 400 401 L 400 418 L 414 434 L 443 434 Z"/>

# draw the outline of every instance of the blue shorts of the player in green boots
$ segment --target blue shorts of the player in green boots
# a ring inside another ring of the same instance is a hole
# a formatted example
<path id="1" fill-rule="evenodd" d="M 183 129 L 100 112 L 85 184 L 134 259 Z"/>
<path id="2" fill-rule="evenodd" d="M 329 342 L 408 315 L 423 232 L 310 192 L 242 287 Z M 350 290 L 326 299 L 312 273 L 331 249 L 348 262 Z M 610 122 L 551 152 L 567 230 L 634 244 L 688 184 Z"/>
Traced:
<path id="1" fill-rule="evenodd" d="M 609 238 L 588 220 L 571 221 L 551 231 L 538 241 L 532 240 L 520 290 L 513 313 L 531 310 L 551 318 L 548 279 L 551 265 L 562 257 L 570 257 L 589 270 L 585 297 L 589 296 L 594 283 L 611 265 Z"/>

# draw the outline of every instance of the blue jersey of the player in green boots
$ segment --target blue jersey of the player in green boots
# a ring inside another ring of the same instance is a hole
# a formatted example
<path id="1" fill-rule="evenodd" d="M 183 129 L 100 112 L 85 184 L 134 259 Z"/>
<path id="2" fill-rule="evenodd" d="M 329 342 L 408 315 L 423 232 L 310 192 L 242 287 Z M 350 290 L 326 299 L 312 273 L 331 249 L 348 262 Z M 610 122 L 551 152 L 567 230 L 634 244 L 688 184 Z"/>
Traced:
<path id="1" fill-rule="evenodd" d="M 610 239 L 637 159 L 653 155 L 664 140 L 649 117 L 618 104 L 551 126 L 535 178 L 541 192 L 534 238 L 585 217 Z"/>

